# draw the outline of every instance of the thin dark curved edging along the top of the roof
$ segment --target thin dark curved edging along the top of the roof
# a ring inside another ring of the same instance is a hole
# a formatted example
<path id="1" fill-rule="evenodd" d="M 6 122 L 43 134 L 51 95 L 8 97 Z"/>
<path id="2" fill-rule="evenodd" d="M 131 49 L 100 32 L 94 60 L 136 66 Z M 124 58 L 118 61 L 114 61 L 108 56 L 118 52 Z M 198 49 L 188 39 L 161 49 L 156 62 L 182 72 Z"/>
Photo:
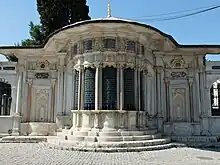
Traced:
<path id="1" fill-rule="evenodd" d="M 169 39 L 170 41 L 173 42 L 173 44 L 177 47 L 177 48 L 220 48 L 220 45 L 206 45 L 206 44 L 202 44 L 202 45 L 183 45 L 183 44 L 179 44 L 171 35 L 168 35 L 162 31 L 160 31 L 159 29 L 152 27 L 150 25 L 147 24 L 143 24 L 143 23 L 138 23 L 138 22 L 134 22 L 134 21 L 129 21 L 129 20 L 123 20 L 123 19 L 97 19 L 97 20 L 87 20 L 87 21 L 82 21 L 82 22 L 77 22 L 75 24 L 72 25 L 68 25 L 65 26 L 61 29 L 56 30 L 55 32 L 51 33 L 47 39 L 45 40 L 44 44 L 42 45 L 36 45 L 36 46 L 0 46 L 0 49 L 40 49 L 43 48 L 46 43 L 48 42 L 48 40 L 53 37 L 55 34 L 63 31 L 63 30 L 67 30 L 70 28 L 74 28 L 74 27 L 78 27 L 78 26 L 82 26 L 82 25 L 86 25 L 86 24 L 90 24 L 90 23 L 127 23 L 127 24 L 132 24 L 132 25 L 137 25 L 137 26 L 142 26 L 148 29 L 151 29 L 157 33 L 159 33 L 160 35 L 164 36 L 165 38 Z"/>

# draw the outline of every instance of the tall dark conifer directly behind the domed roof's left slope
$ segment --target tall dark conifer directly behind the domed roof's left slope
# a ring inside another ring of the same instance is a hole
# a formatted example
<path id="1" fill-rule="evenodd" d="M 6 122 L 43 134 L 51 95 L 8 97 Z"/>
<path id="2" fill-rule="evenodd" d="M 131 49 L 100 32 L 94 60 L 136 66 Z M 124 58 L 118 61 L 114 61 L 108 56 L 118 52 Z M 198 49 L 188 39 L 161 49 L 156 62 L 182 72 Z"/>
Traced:
<path id="1" fill-rule="evenodd" d="M 86 0 L 37 0 L 37 10 L 46 36 L 66 25 L 91 19 Z"/>

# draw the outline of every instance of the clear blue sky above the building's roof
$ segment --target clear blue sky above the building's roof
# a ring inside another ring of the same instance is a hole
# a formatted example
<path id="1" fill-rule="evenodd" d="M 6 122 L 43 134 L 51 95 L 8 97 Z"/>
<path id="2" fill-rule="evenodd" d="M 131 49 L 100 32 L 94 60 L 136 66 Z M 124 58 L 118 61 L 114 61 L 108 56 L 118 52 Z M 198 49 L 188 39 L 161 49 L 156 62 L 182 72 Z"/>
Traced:
<path id="1" fill-rule="evenodd" d="M 39 23 L 36 0 L 1 0 L 0 45 L 28 38 L 30 21 Z M 219 0 L 111 0 L 112 16 L 134 18 L 220 4 Z M 107 0 L 88 0 L 92 18 L 106 17 Z M 220 8 L 172 21 L 141 21 L 172 35 L 181 44 L 220 44 Z M 0 60 L 4 59 L 0 56 Z"/>

